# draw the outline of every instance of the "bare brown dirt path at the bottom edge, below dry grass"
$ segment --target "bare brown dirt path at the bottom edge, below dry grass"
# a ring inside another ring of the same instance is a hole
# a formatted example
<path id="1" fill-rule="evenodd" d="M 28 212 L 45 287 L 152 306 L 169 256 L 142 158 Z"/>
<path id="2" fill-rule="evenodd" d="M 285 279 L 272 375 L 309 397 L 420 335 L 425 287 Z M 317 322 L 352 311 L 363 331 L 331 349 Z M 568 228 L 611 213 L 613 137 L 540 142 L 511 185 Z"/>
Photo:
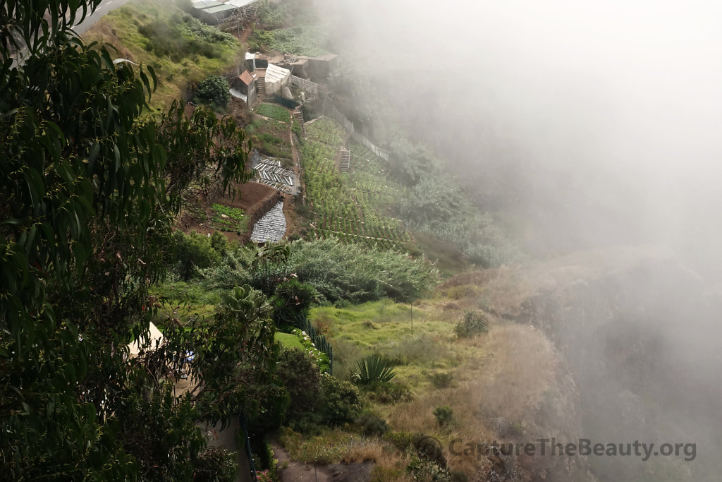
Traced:
<path id="1" fill-rule="evenodd" d="M 313 465 L 291 460 L 278 442 L 271 442 L 278 459 L 282 482 L 367 482 L 371 480 L 373 462 L 355 464 Z"/>

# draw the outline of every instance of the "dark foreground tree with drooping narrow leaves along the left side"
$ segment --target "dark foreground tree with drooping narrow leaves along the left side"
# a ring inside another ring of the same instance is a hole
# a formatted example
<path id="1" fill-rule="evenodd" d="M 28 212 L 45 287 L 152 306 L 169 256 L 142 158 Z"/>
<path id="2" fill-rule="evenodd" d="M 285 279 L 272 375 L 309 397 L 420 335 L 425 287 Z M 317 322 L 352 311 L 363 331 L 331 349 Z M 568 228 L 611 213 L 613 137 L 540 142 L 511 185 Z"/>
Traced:
<path id="1" fill-rule="evenodd" d="M 183 194 L 244 180 L 243 132 L 180 104 L 143 116 L 152 69 L 71 31 L 99 3 L 0 4 L 1 477 L 227 478 L 232 462 L 204 450 L 196 423 L 273 394 L 247 392 L 268 386 L 273 356 L 257 293 L 233 291 L 190 332 L 168 324 L 158 350 L 129 358 L 127 345 L 157 313 L 148 288 Z M 162 379 L 191 349 L 212 383 L 175 397 Z"/>

